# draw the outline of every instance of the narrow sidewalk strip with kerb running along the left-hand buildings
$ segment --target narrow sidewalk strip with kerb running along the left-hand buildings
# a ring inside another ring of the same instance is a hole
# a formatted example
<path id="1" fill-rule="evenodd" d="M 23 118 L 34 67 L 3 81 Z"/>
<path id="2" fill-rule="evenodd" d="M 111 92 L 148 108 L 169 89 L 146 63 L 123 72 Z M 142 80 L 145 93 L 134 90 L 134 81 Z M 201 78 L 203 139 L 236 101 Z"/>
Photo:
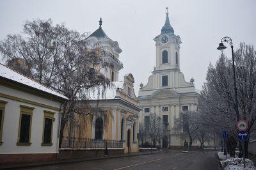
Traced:
<path id="1" fill-rule="evenodd" d="M 68 163 L 76 163 L 76 162 L 86 162 L 92 160 L 102 160 L 102 159 L 111 159 L 111 158 L 120 158 L 120 157 L 136 157 L 140 155 L 151 155 L 156 153 L 163 153 L 161 151 L 157 151 L 155 153 L 141 153 L 141 154 L 131 154 L 131 155 L 114 155 L 114 156 L 107 156 L 107 157 L 95 157 L 95 158 L 74 158 L 74 159 L 64 159 L 64 160 L 57 160 L 54 162 L 39 162 L 39 163 L 31 163 L 31 164 L 13 164 L 8 166 L 0 166 L 0 169 L 21 169 L 26 167 L 42 167 L 42 166 L 54 166 L 58 164 L 68 164 Z"/>

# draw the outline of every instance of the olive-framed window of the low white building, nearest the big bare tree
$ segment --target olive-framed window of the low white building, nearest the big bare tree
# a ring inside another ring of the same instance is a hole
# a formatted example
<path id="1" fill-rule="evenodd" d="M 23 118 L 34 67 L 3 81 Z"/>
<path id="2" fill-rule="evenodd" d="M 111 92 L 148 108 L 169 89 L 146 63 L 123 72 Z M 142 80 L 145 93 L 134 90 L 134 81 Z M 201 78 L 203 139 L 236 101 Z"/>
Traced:
<path id="1" fill-rule="evenodd" d="M 52 146 L 52 127 L 55 112 L 44 111 L 42 146 Z"/>

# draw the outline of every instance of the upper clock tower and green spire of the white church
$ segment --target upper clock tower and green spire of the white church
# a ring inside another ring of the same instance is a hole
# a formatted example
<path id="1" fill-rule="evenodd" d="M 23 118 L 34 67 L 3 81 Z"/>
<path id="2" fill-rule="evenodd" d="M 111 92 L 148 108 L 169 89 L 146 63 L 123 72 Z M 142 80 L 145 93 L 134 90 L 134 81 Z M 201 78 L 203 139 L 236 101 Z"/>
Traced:
<path id="1" fill-rule="evenodd" d="M 180 36 L 174 35 L 173 27 L 170 24 L 166 12 L 165 24 L 161 29 L 161 34 L 154 38 L 156 42 L 156 69 L 177 69 L 179 70 L 180 56 Z"/>

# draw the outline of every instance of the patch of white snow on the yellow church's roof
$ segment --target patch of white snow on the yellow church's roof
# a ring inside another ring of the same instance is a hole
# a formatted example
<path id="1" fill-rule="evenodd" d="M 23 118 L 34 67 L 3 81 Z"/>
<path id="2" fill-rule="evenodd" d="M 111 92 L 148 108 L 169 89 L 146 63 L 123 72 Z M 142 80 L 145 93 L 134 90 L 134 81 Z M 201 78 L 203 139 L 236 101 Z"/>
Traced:
<path id="1" fill-rule="evenodd" d="M 116 97 L 116 89 L 122 89 L 124 81 L 113 82 L 113 87 L 107 88 L 104 91 L 103 88 L 95 88 L 94 91 L 90 90 L 87 92 L 87 97 L 90 100 L 104 100 L 104 99 L 114 99 Z M 102 92 L 104 91 L 103 95 Z"/>

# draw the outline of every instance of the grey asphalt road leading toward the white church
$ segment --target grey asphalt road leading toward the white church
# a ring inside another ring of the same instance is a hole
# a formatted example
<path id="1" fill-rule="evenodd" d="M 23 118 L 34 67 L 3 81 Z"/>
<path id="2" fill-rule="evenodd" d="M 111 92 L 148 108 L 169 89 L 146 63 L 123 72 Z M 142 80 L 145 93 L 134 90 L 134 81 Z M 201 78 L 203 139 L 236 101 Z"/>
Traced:
<path id="1" fill-rule="evenodd" d="M 152 155 L 134 157 L 108 158 L 54 166 L 34 167 L 29 169 L 189 169 L 189 170 L 218 170 L 217 151 L 166 151 Z"/>

